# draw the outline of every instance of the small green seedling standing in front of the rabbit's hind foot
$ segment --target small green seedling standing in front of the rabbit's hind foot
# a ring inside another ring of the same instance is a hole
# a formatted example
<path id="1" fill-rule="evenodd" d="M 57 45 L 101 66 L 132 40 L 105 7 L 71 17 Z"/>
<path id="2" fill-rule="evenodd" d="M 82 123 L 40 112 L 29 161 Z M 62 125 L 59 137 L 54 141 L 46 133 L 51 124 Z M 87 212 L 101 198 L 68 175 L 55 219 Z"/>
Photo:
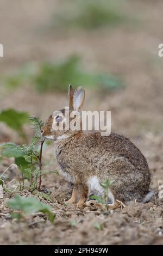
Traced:
<path id="1" fill-rule="evenodd" d="M 91 196 L 91 199 L 97 200 L 98 203 L 103 205 L 103 208 L 108 210 L 108 202 L 109 202 L 109 187 L 112 185 L 114 180 L 105 180 L 104 182 L 99 182 L 99 184 L 104 189 L 104 196 Z"/>

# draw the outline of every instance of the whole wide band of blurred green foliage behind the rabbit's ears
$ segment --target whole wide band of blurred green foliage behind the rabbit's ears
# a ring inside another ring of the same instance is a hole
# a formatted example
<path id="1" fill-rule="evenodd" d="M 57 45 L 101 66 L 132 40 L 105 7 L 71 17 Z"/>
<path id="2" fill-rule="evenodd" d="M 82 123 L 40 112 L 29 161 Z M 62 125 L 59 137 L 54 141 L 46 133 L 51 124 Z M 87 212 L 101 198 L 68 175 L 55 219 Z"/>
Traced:
<path id="1" fill-rule="evenodd" d="M 76 55 L 71 55 L 60 62 L 41 63 L 34 72 L 31 72 L 31 74 L 28 72 L 28 75 L 22 77 L 22 79 L 22 85 L 24 82 L 28 82 L 34 85 L 39 92 L 67 92 L 67 87 L 70 83 L 75 86 L 82 85 L 109 91 L 123 86 L 120 78 L 114 75 L 86 72 L 80 66 L 80 58 Z"/>

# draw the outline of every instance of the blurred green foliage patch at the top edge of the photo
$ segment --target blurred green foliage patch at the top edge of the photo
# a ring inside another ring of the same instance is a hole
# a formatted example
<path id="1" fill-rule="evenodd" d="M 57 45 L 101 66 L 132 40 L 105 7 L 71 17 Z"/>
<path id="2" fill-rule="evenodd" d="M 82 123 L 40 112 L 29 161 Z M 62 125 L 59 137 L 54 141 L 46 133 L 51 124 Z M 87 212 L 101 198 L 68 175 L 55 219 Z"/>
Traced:
<path id="1" fill-rule="evenodd" d="M 115 4 L 116 2 L 116 4 Z M 121 1 L 122 2 L 122 1 Z M 120 1 L 77 0 L 68 2 L 52 19 L 55 28 L 96 29 L 103 26 L 121 25 L 129 20 L 121 12 Z M 123 1 L 124 2 L 124 1 Z M 66 3 L 65 3 L 66 4 Z"/>

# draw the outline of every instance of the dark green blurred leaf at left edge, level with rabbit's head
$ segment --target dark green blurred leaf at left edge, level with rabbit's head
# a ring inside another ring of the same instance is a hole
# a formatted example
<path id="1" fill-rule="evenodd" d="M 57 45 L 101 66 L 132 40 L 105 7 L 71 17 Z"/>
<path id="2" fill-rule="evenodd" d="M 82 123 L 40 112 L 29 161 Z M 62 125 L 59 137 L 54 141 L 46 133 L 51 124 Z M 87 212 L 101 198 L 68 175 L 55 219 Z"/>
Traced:
<path id="1" fill-rule="evenodd" d="M 26 132 L 23 129 L 23 125 L 29 122 L 29 115 L 26 112 L 19 112 L 12 108 L 4 109 L 0 112 L 0 122 L 5 123 L 25 141 L 27 140 Z"/>

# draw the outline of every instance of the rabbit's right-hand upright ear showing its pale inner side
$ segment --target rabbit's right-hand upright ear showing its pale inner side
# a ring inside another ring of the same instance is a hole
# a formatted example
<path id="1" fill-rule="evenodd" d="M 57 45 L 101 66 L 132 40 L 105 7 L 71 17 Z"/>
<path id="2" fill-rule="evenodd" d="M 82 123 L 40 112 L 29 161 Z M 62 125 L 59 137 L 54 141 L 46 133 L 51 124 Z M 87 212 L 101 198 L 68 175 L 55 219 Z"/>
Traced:
<path id="1" fill-rule="evenodd" d="M 73 94 L 74 110 L 81 111 L 85 100 L 85 90 L 83 87 L 78 87 Z"/>

